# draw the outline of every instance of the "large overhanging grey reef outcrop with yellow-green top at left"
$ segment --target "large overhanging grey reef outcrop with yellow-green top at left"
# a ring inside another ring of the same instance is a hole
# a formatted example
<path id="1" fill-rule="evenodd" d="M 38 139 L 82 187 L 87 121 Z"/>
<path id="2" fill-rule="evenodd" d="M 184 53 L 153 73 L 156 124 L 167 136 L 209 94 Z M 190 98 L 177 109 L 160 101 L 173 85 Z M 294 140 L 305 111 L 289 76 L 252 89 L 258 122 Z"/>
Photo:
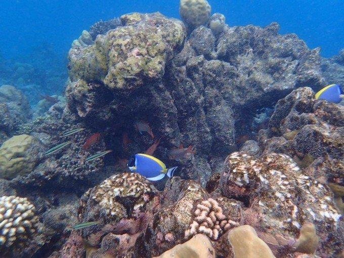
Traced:
<path id="1" fill-rule="evenodd" d="M 115 150 L 120 157 L 152 143 L 133 130 L 140 120 L 163 137 L 156 154 L 162 160 L 169 149 L 193 145 L 196 155 L 181 161 L 181 175 L 203 185 L 237 149 L 236 138 L 246 133 L 240 124 L 257 109 L 297 87 L 324 83 L 319 51 L 294 34 L 279 35 L 278 24 L 231 28 L 220 14 L 206 17 L 189 31 L 158 13 L 121 16 L 92 45 L 70 50 L 66 90 L 80 121 L 111 131 L 107 146 L 131 135 L 136 150 Z"/>

